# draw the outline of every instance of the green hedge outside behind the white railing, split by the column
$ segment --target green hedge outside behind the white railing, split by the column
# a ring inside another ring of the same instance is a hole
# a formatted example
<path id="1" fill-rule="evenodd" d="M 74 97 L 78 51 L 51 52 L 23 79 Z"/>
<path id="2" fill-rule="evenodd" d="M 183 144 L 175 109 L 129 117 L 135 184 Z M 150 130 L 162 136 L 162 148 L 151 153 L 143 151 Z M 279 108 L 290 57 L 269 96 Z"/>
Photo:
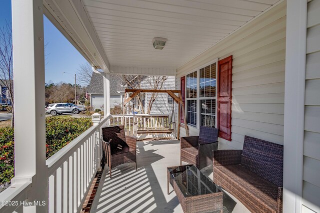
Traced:
<path id="1" fill-rule="evenodd" d="M 91 118 L 47 117 L 45 119 L 46 158 L 92 126 Z M 14 176 L 14 130 L 0 129 L 0 184 Z"/>

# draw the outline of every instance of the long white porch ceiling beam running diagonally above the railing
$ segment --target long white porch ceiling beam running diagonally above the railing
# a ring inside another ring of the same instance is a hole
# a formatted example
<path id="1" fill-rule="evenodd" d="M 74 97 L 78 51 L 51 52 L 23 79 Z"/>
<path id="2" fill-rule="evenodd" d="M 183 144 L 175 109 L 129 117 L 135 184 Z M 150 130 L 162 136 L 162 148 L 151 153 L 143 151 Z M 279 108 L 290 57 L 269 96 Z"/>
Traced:
<path id="1" fill-rule="evenodd" d="M 110 63 L 80 0 L 43 0 L 44 14 L 92 66 L 110 72 Z"/>

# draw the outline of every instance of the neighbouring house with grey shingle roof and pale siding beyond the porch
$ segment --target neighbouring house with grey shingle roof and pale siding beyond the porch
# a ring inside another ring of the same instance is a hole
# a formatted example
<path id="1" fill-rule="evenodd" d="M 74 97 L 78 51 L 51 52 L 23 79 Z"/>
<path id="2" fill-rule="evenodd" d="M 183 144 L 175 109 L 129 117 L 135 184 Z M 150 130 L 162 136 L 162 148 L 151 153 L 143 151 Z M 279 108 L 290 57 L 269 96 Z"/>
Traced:
<path id="1" fill-rule="evenodd" d="M 151 76 L 145 76 L 141 82 L 141 89 L 151 89 L 149 79 Z M 168 76 L 164 81 L 161 89 L 174 89 L 175 77 Z M 122 86 L 121 86 L 122 85 Z M 110 75 L 110 108 L 122 103 L 124 98 L 125 84 L 117 76 Z M 100 74 L 93 73 L 88 87 L 87 93 L 90 95 L 91 108 L 101 109 L 103 108 L 103 77 Z M 151 98 L 151 93 L 140 93 L 140 99 L 142 100 L 143 109 L 146 113 L 147 105 Z M 122 100 L 121 100 L 122 99 Z M 132 102 L 131 102 L 132 104 Z M 173 100 L 166 93 L 158 93 L 155 101 L 152 104 L 151 114 L 158 113 L 171 113 Z M 141 110 L 140 110 L 141 111 Z"/>

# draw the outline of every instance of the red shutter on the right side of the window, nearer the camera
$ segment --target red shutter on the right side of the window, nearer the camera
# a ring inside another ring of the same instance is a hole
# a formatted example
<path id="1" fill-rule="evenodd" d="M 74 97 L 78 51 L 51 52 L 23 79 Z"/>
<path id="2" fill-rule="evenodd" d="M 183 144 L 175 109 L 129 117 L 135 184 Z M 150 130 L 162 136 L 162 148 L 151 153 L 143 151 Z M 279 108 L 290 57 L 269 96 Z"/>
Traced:
<path id="1" fill-rule="evenodd" d="M 219 137 L 231 141 L 232 55 L 218 61 L 217 128 Z"/>

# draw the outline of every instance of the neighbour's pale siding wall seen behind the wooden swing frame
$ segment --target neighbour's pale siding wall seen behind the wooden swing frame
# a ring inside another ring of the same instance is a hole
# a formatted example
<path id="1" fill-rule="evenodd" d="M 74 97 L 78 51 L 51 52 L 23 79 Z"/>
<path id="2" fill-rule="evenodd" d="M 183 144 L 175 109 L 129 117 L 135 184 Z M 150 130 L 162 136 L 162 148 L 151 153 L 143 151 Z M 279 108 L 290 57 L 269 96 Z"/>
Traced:
<path id="1" fill-rule="evenodd" d="M 150 77 L 148 77 L 150 78 Z M 143 89 L 152 89 L 149 85 L 148 78 L 141 82 L 141 88 Z M 168 76 L 167 79 L 164 81 L 163 86 L 161 89 L 174 89 L 174 76 Z M 151 99 L 152 93 L 145 94 L 145 102 L 144 102 L 144 112 L 146 113 L 147 105 Z M 167 93 L 158 93 L 155 101 L 152 104 L 151 114 L 166 114 L 172 112 L 172 105 L 169 105 L 167 102 Z"/>

